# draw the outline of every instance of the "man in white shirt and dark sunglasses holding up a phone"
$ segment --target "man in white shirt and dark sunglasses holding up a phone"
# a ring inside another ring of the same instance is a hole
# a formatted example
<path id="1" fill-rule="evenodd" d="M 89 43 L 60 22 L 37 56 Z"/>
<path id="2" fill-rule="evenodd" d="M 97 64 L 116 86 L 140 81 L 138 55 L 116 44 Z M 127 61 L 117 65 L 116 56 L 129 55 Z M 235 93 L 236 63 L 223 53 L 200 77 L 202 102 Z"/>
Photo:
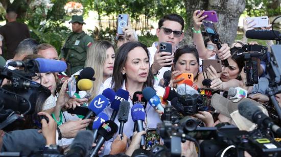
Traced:
<path id="1" fill-rule="evenodd" d="M 183 28 L 184 20 L 177 14 L 165 15 L 158 22 L 158 28 L 156 30 L 158 42 L 154 42 L 152 46 L 148 48 L 150 54 L 149 60 L 152 73 L 154 74 L 155 85 L 159 84 L 159 81 L 163 78 L 165 71 L 171 70 L 174 52 L 179 42 L 183 39 Z M 168 42 L 172 44 L 172 55 L 169 52 L 159 53 L 158 43 L 160 42 Z"/>

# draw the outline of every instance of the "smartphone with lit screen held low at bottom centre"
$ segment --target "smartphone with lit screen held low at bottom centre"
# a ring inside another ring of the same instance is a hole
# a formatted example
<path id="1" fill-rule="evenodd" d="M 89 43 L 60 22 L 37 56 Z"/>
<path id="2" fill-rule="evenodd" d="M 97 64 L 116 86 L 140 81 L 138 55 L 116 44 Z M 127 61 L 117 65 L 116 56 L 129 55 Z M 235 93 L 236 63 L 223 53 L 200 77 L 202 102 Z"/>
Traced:
<path id="1" fill-rule="evenodd" d="M 156 128 L 149 128 L 146 130 L 146 149 L 151 149 L 154 145 L 159 145 L 160 135 Z"/>

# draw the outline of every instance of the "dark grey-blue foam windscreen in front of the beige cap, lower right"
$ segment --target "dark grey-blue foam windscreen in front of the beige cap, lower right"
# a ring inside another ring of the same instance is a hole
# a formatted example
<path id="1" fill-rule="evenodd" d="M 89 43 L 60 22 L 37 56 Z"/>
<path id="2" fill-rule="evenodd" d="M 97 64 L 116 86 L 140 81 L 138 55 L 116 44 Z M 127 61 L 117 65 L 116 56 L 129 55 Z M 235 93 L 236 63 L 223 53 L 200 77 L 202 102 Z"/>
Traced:
<path id="1" fill-rule="evenodd" d="M 250 121 L 254 121 L 252 119 L 254 113 L 261 111 L 256 104 L 252 103 L 251 101 L 243 101 L 238 104 L 238 112 L 245 118 L 249 119 Z M 262 112 L 262 111 L 261 111 Z"/>

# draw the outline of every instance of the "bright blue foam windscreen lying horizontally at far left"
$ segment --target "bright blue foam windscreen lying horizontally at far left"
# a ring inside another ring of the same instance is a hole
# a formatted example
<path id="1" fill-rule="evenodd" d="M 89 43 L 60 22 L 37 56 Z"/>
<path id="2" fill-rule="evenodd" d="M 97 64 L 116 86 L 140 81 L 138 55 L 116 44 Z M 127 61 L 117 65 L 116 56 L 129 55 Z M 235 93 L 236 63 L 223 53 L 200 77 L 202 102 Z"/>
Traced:
<path id="1" fill-rule="evenodd" d="M 39 70 L 42 73 L 45 72 L 63 72 L 66 69 L 66 63 L 64 61 L 36 58 L 35 61 L 39 64 Z"/>

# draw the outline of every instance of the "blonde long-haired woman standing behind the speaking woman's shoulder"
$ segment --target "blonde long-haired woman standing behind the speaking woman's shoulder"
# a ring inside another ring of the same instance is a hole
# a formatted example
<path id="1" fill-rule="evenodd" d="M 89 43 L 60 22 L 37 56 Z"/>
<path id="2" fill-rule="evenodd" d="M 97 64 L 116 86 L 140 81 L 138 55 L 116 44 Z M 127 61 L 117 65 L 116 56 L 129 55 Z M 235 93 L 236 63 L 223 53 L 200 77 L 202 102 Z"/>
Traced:
<path id="1" fill-rule="evenodd" d="M 109 88 L 104 85 L 109 84 L 106 82 L 111 82 L 114 60 L 114 47 L 109 41 L 96 41 L 88 48 L 85 67 L 92 67 L 95 70 L 96 77 L 96 81 L 93 81 L 92 89 L 89 91 L 91 94 L 89 101 L 100 94 L 105 88 Z"/>

